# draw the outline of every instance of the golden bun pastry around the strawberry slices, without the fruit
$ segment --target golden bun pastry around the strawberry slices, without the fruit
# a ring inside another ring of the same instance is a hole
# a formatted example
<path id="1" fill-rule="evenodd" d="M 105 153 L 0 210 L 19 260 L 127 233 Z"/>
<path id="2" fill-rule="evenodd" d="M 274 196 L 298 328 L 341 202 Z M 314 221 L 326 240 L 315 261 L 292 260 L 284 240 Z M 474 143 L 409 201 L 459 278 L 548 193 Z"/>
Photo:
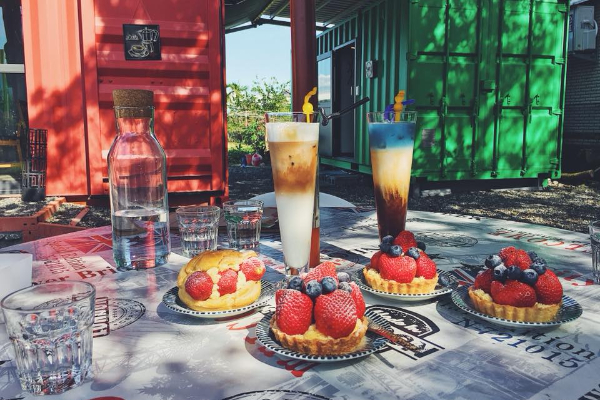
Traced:
<path id="1" fill-rule="evenodd" d="M 177 294 L 186 306 L 196 311 L 224 311 L 245 307 L 258 299 L 261 291 L 260 281 L 247 281 L 245 275 L 239 271 L 240 264 L 250 258 L 256 257 L 254 251 L 214 250 L 205 251 L 192 258 L 177 276 Z M 219 295 L 219 272 L 232 269 L 238 273 L 237 290 L 234 293 Z M 206 300 L 195 300 L 185 291 L 185 281 L 196 271 L 208 273 L 213 280 L 212 295 Z"/>

